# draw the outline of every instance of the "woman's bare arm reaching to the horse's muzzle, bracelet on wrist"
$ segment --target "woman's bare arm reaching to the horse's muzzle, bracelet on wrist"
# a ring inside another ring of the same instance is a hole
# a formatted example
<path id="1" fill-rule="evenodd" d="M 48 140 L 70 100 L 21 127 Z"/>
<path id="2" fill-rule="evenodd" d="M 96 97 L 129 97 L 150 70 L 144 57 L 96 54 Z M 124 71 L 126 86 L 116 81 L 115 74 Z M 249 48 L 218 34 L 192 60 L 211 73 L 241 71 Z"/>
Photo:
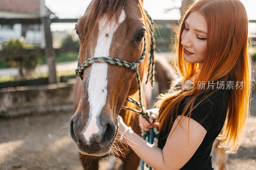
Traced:
<path id="1" fill-rule="evenodd" d="M 119 118 L 119 133 L 122 134 L 128 127 L 124 124 L 120 116 Z M 179 119 L 180 115 L 174 121 L 170 134 L 174 130 Z M 124 135 L 124 139 L 131 145 L 132 150 L 140 157 L 140 159 L 146 162 L 153 169 L 180 169 L 196 152 L 206 134 L 206 130 L 203 126 L 191 118 L 189 120 L 188 131 L 189 118 L 184 116 L 182 119 L 183 120 L 181 121 L 183 122 L 180 122 L 180 125 L 172 133 L 172 136 L 168 136 L 163 150 L 147 143 L 142 137 L 133 131 L 130 131 L 131 133 L 126 133 Z"/>

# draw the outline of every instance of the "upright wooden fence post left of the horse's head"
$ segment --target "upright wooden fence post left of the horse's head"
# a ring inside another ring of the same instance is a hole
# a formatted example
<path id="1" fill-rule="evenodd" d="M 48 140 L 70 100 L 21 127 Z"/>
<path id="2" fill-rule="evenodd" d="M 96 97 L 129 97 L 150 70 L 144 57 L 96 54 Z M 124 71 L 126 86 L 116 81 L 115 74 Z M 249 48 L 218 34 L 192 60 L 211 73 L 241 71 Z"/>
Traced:
<path id="1" fill-rule="evenodd" d="M 57 83 L 57 75 L 56 75 L 56 63 L 55 63 L 55 52 L 52 47 L 52 32 L 51 32 L 51 19 L 49 16 L 44 16 L 41 18 L 42 23 L 44 24 L 44 38 L 45 38 L 45 48 L 44 55 L 46 58 L 46 62 L 49 69 L 49 84 Z"/>

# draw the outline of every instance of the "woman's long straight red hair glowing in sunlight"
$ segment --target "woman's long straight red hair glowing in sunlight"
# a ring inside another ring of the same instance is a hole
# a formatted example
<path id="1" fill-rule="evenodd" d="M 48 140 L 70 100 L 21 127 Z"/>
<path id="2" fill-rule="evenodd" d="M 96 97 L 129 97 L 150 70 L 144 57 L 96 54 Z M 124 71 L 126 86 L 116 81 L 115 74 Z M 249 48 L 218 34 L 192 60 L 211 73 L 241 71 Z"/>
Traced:
<path id="1" fill-rule="evenodd" d="M 185 82 L 199 69 L 198 63 L 188 63 L 184 60 L 183 46 L 181 45 L 181 33 L 185 28 L 184 21 L 192 11 L 197 11 L 204 16 L 208 26 L 203 67 L 198 78 L 193 81 L 195 86 L 192 89 L 176 90 L 159 96 L 155 107 L 160 108 L 160 130 L 171 129 L 178 116 L 177 107 L 185 96 L 189 96 L 189 100 L 185 101 L 186 106 L 181 117 L 185 115 L 188 107 L 190 110 L 185 116 L 190 117 L 191 110 L 199 104 L 193 106 L 196 97 L 203 92 L 212 90 L 197 89 L 198 81 L 244 82 L 242 89 L 226 90 L 228 93 L 227 117 L 223 131 L 219 135 L 222 147 L 227 147 L 229 153 L 235 153 L 244 133 L 252 91 L 252 59 L 247 48 L 247 14 L 244 5 L 239 0 L 199 0 L 188 6 L 177 32 L 176 58 L 172 62 L 173 67 L 180 75 L 180 79 L 175 82 L 176 84 Z M 204 99 L 206 100 L 216 90 L 218 89 L 215 88 Z M 169 120 L 171 123 L 168 122 Z"/>

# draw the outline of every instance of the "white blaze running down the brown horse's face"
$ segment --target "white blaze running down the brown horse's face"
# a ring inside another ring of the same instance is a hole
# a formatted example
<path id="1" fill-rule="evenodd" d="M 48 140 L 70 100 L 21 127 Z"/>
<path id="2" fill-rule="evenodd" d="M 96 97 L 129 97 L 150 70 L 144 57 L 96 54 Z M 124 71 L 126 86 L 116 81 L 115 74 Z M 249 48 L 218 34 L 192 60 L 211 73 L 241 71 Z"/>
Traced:
<path id="1" fill-rule="evenodd" d="M 118 24 L 115 21 L 107 23 L 106 17 L 103 17 L 99 22 L 99 35 L 97 45 L 93 57 L 108 57 L 109 49 L 112 41 L 112 37 L 119 26 L 125 19 L 124 9 L 122 10 Z M 105 26 L 103 28 L 103 26 Z M 98 124 L 99 115 L 102 107 L 106 103 L 107 98 L 107 63 L 94 63 L 92 64 L 91 75 L 88 83 L 88 94 L 90 103 L 89 119 L 84 128 L 84 137 L 87 140 L 87 144 L 90 144 L 89 140 L 92 134 L 96 134 L 100 131 Z"/>

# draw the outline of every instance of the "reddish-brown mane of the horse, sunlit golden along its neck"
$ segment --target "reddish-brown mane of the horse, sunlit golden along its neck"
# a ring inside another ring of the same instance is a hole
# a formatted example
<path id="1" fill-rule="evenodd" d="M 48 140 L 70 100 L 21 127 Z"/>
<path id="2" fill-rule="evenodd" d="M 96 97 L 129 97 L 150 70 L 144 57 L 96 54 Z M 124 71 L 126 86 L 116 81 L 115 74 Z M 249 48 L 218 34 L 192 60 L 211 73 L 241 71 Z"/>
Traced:
<path id="1" fill-rule="evenodd" d="M 113 18 L 118 22 L 118 18 L 124 8 L 124 4 L 127 0 L 94 0 L 88 6 L 88 11 L 85 12 L 85 23 L 84 23 L 84 30 L 81 33 L 81 37 L 86 39 L 86 35 L 88 35 L 89 31 L 94 31 L 97 29 L 97 21 L 101 19 L 103 16 L 106 16 L 106 22 L 112 22 Z M 142 0 L 134 0 L 138 4 L 140 9 L 143 21 L 146 26 L 146 56 L 145 56 L 145 64 L 144 64 L 144 73 L 148 71 L 148 52 L 150 50 L 151 44 L 151 30 L 150 25 L 152 26 L 151 21 L 149 20 L 146 11 L 142 7 Z M 153 35 L 152 35 L 153 36 Z M 135 93 L 136 94 L 136 93 Z M 136 98 L 136 97 L 135 97 Z M 139 98 L 138 98 L 139 99 Z M 132 107 L 132 106 L 131 106 Z M 130 122 L 132 118 L 134 118 L 134 113 L 131 111 L 126 111 L 125 114 L 126 121 Z"/>

